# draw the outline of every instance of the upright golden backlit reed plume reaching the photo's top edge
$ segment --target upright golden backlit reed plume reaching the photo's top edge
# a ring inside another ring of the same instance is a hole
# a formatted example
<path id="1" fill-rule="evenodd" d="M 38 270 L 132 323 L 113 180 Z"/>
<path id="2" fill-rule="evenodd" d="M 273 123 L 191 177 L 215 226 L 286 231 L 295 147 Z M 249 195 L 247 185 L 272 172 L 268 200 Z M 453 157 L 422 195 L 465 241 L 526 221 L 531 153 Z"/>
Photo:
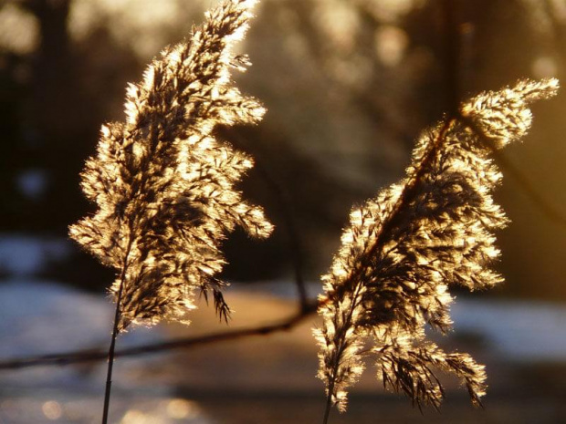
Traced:
<path id="1" fill-rule="evenodd" d="M 188 39 L 165 48 L 142 82 L 129 85 L 126 122 L 102 127 L 82 172 L 98 211 L 72 225 L 70 236 L 118 270 L 110 290 L 119 331 L 180 317 L 198 291 L 212 292 L 227 318 L 225 284 L 215 278 L 225 264 L 220 243 L 236 225 L 258 237 L 272 230 L 234 187 L 252 160 L 213 134 L 216 125 L 255 123 L 265 112 L 230 79 L 231 68 L 249 65 L 231 47 L 254 3 L 225 2 Z"/>

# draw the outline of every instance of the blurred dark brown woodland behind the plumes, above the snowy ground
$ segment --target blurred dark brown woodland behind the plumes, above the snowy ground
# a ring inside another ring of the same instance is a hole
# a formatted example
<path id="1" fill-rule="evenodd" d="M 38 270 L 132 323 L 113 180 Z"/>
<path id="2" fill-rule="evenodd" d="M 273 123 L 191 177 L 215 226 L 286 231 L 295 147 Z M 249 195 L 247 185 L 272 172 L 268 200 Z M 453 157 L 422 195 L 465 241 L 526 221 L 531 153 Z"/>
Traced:
<path id="1" fill-rule="evenodd" d="M 139 79 L 158 53 L 135 48 L 136 39 L 151 36 L 149 28 L 145 35 L 129 33 L 130 15 L 113 16 L 110 9 L 73 36 L 72 7 L 85 2 L 0 3 L 0 15 L 12 7 L 37 23 L 34 48 L 0 47 L 0 232 L 65 236 L 68 223 L 89 212 L 79 191 L 83 161 L 94 151 L 100 124 L 122 119 L 125 83 Z M 160 40 L 173 42 L 210 2 L 164 3 L 177 13 L 161 26 Z M 236 78 L 266 105 L 266 118 L 255 128 L 218 132 L 256 158 L 242 190 L 265 205 L 278 229 L 267 242 L 240 233 L 226 242 L 227 278 L 288 277 L 293 258 L 317 278 L 352 204 L 402 174 L 420 130 L 477 91 L 518 78 L 563 77 L 565 31 L 562 0 L 263 0 L 241 47 L 254 66 Z M 505 153 L 564 215 L 565 102 L 560 94 L 537 105 L 530 136 Z M 30 196 L 17 181 L 34 170 L 47 184 Z M 563 300 L 564 225 L 505 164 L 502 170 L 498 198 L 512 220 L 498 234 L 508 280 L 503 292 Z M 51 273 L 96 289 L 111 279 L 82 253 Z"/>

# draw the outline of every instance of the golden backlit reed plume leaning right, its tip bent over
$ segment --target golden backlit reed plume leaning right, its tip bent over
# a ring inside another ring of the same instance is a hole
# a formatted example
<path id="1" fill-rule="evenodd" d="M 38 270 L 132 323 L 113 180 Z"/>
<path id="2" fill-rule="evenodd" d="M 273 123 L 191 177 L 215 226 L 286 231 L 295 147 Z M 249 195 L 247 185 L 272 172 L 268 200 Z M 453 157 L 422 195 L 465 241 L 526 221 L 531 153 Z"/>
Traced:
<path id="1" fill-rule="evenodd" d="M 425 339 L 425 326 L 452 326 L 450 284 L 470 290 L 502 277 L 488 268 L 498 258 L 493 231 L 507 223 L 491 191 L 501 174 L 488 159 L 525 135 L 528 105 L 550 98 L 556 79 L 521 81 L 461 106 L 418 140 L 403 181 L 351 212 L 341 250 L 324 275 L 319 377 L 326 383 L 325 422 L 343 411 L 347 389 L 373 357 L 386 388 L 404 392 L 419 408 L 444 397 L 434 368 L 460 377 L 472 403 L 485 394 L 484 367 L 464 353 L 446 353 Z"/>

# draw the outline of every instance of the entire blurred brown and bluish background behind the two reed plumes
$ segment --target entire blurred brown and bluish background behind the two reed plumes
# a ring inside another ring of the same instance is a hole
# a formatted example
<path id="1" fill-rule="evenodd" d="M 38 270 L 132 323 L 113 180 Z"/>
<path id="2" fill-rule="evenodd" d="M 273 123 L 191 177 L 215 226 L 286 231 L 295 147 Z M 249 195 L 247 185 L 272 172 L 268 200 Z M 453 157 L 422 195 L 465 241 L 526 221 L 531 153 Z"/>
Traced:
<path id="1" fill-rule="evenodd" d="M 112 272 L 67 240 L 68 225 L 93 211 L 79 172 L 100 125 L 123 119 L 126 82 L 140 79 L 149 60 L 188 36 L 215 4 L 0 0 L 2 357 L 106 346 Z M 420 131 L 457 99 L 566 73 L 564 0 L 263 0 L 256 12 L 237 47 L 253 67 L 235 78 L 267 115 L 257 127 L 219 133 L 256 158 L 241 189 L 265 206 L 277 231 L 261 243 L 236 232 L 225 244 L 233 326 L 291 314 L 298 262 L 310 292 L 320 290 L 351 206 L 403 175 Z M 404 399 L 384 395 L 368 372 L 351 415 L 335 422 L 378 415 L 380 422 L 566 422 L 565 111 L 563 92 L 534 105 L 529 136 L 502 153 L 507 167 L 496 197 L 512 222 L 498 233 L 506 284 L 458 294 L 456 332 L 447 343 L 487 362 L 490 408 L 473 411 L 458 391 L 444 415 L 421 418 Z M 128 337 L 140 343 L 218 329 L 212 315 L 199 314 L 202 326 L 196 315 L 194 327 Z M 116 422 L 301 422 L 299 412 L 312 417 L 304 422 L 320 419 L 311 324 L 256 345 L 244 340 L 154 358 L 152 372 L 143 360 L 129 362 Z M 259 355 L 266 343 L 271 348 Z M 73 415 L 72 405 L 98 411 L 100 369 L 5 374 L 0 423 L 91 422 Z M 214 401 L 220 395 L 222 408 Z M 34 418 L 22 412 L 32 404 Z M 169 415 L 151 415 L 152 405 Z"/>

